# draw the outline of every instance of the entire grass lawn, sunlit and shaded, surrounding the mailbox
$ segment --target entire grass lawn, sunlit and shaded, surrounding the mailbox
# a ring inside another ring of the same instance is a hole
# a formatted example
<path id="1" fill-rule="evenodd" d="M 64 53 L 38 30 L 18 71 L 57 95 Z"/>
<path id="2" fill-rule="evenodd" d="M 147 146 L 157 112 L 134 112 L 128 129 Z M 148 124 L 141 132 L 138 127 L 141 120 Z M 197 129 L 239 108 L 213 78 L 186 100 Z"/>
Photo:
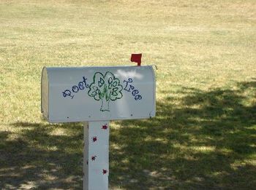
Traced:
<path id="1" fill-rule="evenodd" d="M 155 64 L 157 116 L 111 122 L 110 189 L 255 189 L 256 3 L 0 1 L 0 189 L 82 189 L 83 125 L 42 66 Z"/>

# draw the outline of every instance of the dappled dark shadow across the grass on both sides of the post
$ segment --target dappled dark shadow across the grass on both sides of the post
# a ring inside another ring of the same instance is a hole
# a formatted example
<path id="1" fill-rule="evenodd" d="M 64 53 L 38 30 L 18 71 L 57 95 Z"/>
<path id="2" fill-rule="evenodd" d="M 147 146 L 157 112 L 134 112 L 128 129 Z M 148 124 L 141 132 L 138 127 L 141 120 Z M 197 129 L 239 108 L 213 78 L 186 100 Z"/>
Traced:
<path id="1" fill-rule="evenodd" d="M 111 189 L 254 189 L 255 92 L 256 82 L 182 88 L 178 98 L 157 102 L 154 119 L 116 122 Z M 12 125 L 20 129 L 16 140 L 0 133 L 1 189 L 82 189 L 81 124 Z"/>

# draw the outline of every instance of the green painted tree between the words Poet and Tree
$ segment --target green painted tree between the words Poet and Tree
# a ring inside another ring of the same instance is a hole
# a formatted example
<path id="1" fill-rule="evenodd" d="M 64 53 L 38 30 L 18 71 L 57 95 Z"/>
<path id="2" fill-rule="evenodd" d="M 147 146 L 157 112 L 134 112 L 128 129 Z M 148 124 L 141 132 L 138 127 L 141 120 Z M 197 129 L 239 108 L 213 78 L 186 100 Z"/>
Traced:
<path id="1" fill-rule="evenodd" d="M 120 80 L 109 71 L 104 74 L 96 72 L 94 74 L 94 82 L 90 84 L 88 95 L 94 100 L 101 100 L 100 111 L 110 111 L 110 100 L 118 100 L 123 97 L 121 91 L 123 86 Z"/>

